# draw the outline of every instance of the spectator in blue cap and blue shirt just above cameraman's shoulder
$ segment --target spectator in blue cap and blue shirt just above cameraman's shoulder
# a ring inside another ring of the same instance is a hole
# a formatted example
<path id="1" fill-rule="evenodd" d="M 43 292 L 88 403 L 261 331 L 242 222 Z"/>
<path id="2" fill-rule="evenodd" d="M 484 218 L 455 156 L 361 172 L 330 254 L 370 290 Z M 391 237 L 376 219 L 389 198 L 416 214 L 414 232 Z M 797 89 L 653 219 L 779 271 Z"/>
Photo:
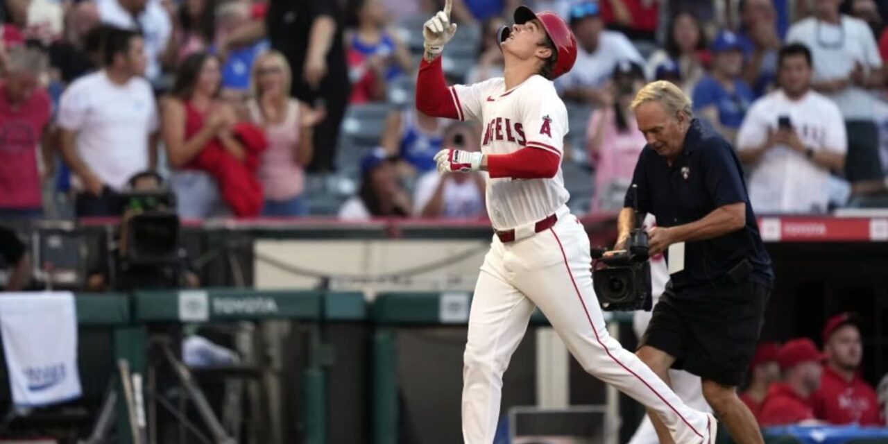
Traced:
<path id="1" fill-rule="evenodd" d="M 737 35 L 722 31 L 712 44 L 712 73 L 694 87 L 694 112 L 733 143 L 755 95 L 741 78 L 743 46 Z"/>

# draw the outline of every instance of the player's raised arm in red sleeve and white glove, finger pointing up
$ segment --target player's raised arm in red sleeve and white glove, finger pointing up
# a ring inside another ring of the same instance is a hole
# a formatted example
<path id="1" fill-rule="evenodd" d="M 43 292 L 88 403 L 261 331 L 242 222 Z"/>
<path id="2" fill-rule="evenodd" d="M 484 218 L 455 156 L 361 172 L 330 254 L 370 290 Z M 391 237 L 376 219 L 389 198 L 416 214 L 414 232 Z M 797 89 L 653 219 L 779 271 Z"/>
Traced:
<path id="1" fill-rule="evenodd" d="M 424 52 L 416 74 L 416 109 L 427 115 L 463 120 L 456 93 L 448 89 L 441 69 L 441 52 L 453 35 L 456 23 L 450 23 L 451 0 L 423 26 Z"/>

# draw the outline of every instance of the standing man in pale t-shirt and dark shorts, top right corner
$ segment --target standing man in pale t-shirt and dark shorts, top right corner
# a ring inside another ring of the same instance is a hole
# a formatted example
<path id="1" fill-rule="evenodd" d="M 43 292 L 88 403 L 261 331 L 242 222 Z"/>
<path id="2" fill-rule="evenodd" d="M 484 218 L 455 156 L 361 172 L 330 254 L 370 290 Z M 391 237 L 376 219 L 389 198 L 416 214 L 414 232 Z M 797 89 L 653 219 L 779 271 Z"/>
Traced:
<path id="1" fill-rule="evenodd" d="M 805 44 L 813 56 L 813 89 L 836 102 L 848 134 L 845 173 L 852 182 L 882 178 L 874 90 L 883 85 L 876 36 L 863 20 L 839 13 L 841 0 L 814 2 L 814 16 L 797 22 L 788 43 Z"/>

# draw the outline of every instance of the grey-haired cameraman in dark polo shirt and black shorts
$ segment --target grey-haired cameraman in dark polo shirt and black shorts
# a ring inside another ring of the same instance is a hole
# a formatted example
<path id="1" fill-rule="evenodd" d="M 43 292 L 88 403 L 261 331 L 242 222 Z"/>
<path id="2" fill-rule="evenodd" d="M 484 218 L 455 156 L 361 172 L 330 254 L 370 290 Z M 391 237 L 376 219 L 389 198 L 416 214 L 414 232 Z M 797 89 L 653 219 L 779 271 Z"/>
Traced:
<path id="1" fill-rule="evenodd" d="M 736 388 L 756 350 L 773 272 L 740 162 L 723 137 L 694 119 L 691 99 L 672 83 L 647 84 L 631 108 L 647 140 L 632 178 L 638 210 L 656 217 L 650 255 L 665 253 L 670 271 L 638 357 L 667 383 L 670 368 L 700 376 L 703 396 L 733 440 L 761 443 Z M 616 249 L 634 227 L 633 202 L 630 192 Z M 661 442 L 672 442 L 652 419 Z"/>

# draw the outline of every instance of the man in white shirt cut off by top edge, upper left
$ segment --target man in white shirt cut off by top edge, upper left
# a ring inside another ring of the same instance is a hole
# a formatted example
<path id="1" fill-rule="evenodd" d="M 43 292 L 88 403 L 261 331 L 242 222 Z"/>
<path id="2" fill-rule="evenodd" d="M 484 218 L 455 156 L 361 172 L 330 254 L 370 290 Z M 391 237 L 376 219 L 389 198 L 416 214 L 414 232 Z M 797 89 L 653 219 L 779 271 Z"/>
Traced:
<path id="1" fill-rule="evenodd" d="M 172 34 L 170 15 L 159 0 L 98 0 L 102 23 L 130 29 L 145 39 L 147 68 L 145 75 L 152 82 L 161 75 L 161 57 Z"/>

